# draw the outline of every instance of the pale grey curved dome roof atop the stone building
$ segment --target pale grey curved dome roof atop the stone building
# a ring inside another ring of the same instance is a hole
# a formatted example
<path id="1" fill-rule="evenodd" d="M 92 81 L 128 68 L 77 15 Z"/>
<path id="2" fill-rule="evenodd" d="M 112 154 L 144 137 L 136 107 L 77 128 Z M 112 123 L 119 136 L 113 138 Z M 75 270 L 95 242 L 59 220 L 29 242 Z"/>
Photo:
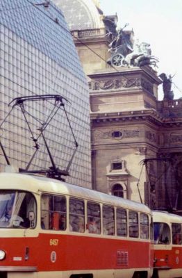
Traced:
<path id="1" fill-rule="evenodd" d="M 70 30 L 103 27 L 99 9 L 92 0 L 53 0 L 63 11 Z"/>

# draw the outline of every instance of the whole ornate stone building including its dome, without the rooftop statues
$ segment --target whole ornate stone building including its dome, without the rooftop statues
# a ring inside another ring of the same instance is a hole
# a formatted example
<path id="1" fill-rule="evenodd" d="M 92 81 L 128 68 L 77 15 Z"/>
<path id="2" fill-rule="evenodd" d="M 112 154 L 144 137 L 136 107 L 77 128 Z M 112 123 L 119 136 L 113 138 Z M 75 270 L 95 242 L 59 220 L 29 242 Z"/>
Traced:
<path id="1" fill-rule="evenodd" d="M 92 187 L 181 211 L 181 99 L 158 101 L 152 67 L 106 63 L 112 39 L 98 1 L 55 0 L 63 10 L 90 85 Z M 72 17 L 72 13 L 76 17 Z M 133 32 L 127 33 L 133 42 Z"/>

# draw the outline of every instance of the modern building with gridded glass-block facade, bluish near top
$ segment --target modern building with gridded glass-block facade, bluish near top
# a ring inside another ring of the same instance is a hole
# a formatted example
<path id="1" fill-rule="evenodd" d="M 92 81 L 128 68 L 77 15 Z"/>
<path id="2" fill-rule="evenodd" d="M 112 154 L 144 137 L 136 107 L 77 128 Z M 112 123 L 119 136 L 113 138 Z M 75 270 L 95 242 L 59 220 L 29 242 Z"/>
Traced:
<path id="1" fill-rule="evenodd" d="M 6 117 L 15 97 L 62 95 L 78 149 L 66 181 L 91 186 L 90 116 L 88 83 L 65 17 L 54 3 L 38 0 L 3 0 L 0 8 L 0 118 Z M 52 104 L 26 105 L 35 137 L 39 124 L 47 119 Z M 39 122 L 36 122 L 38 119 Z M 65 170 L 74 152 L 74 138 L 60 109 L 44 133 L 56 165 Z M 25 168 L 35 148 L 24 117 L 15 107 L 1 126 L 1 142 L 16 167 Z M 0 156 L 1 171 L 6 161 Z M 30 170 L 51 166 L 40 138 L 38 153 Z"/>

